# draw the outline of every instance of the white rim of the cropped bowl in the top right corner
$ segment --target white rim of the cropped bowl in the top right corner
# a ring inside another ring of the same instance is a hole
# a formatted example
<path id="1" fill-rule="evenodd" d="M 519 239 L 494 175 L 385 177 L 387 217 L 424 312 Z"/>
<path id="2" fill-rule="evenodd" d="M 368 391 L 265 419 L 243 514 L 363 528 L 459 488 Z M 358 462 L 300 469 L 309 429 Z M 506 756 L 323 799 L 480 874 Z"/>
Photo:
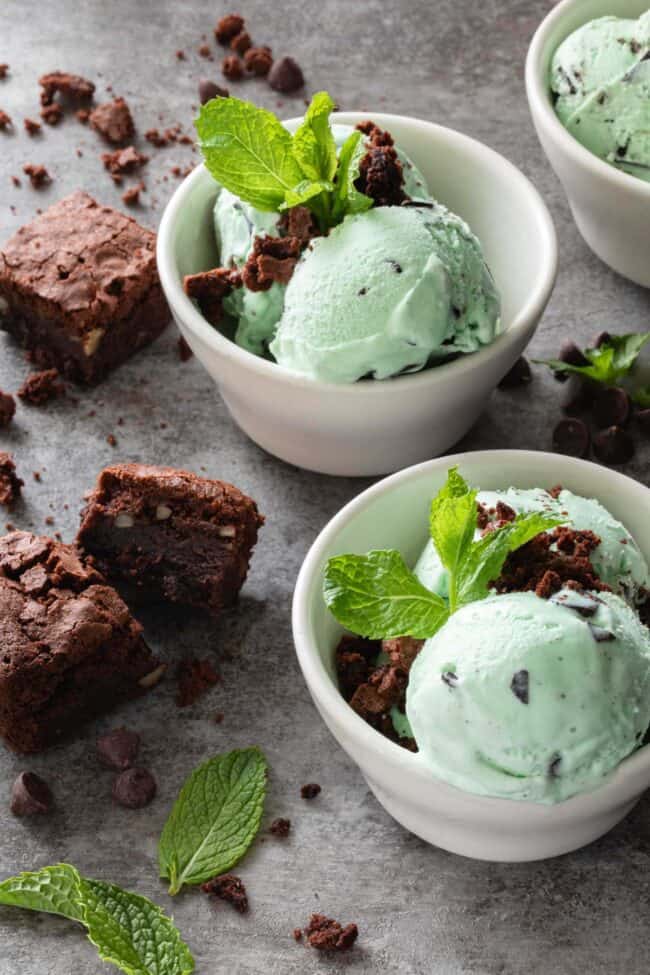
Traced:
<path id="1" fill-rule="evenodd" d="M 576 166 L 582 166 L 583 169 L 589 170 L 594 177 L 609 179 L 620 189 L 636 192 L 641 199 L 650 201 L 650 183 L 617 169 L 591 152 L 590 149 L 585 148 L 582 143 L 567 132 L 551 104 L 548 78 L 543 76 L 542 71 L 542 63 L 550 35 L 570 13 L 586 6 L 587 3 L 589 0 L 560 0 L 560 3 L 544 17 L 533 34 L 528 47 L 525 66 L 526 92 L 530 110 L 533 116 L 537 115 L 543 121 L 550 134 Z M 612 14 L 612 16 L 617 15 Z M 585 16 L 583 24 L 593 19 L 593 17 Z M 569 31 L 563 39 L 568 36 Z"/>

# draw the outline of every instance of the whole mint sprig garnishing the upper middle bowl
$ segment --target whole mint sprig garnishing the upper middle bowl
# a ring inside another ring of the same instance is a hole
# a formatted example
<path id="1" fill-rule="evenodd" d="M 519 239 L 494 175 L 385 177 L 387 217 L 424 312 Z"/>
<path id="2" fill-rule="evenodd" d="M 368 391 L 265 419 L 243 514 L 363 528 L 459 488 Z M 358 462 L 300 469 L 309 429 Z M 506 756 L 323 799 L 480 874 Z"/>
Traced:
<path id="1" fill-rule="evenodd" d="M 354 187 L 366 152 L 361 132 L 350 135 L 337 157 L 333 109 L 327 92 L 318 92 L 292 136 L 264 108 L 214 98 L 195 121 L 205 164 L 222 186 L 258 210 L 306 206 L 325 231 L 373 205 Z"/>

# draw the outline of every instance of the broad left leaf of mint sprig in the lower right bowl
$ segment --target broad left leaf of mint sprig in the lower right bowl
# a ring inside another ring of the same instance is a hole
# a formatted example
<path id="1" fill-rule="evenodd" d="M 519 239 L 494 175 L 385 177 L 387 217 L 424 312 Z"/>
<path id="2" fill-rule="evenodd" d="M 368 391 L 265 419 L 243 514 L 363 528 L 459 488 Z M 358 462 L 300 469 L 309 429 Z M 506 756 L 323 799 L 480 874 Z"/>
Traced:
<path id="1" fill-rule="evenodd" d="M 323 595 L 339 623 L 373 640 L 426 639 L 449 615 L 444 599 L 426 589 L 391 550 L 329 559 Z"/>

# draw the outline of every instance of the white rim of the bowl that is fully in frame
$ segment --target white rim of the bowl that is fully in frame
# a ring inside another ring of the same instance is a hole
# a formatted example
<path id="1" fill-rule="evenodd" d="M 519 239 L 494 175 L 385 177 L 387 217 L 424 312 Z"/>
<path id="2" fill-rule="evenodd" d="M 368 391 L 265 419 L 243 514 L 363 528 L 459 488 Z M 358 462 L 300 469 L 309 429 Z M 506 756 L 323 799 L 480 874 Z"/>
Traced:
<path id="1" fill-rule="evenodd" d="M 302 376 L 278 365 L 278 363 L 262 359 L 260 356 L 240 348 L 235 342 L 226 338 L 218 329 L 210 325 L 183 291 L 174 260 L 172 239 L 187 199 L 198 185 L 212 179 L 205 165 L 201 163 L 176 189 L 163 212 L 156 245 L 158 273 L 172 311 L 189 332 L 194 333 L 211 351 L 216 352 L 223 359 L 248 370 L 261 379 L 279 381 L 294 388 L 314 390 L 322 394 L 347 395 L 358 398 L 383 397 L 386 395 L 402 396 L 407 391 L 417 392 L 418 389 L 428 387 L 435 382 L 454 382 L 475 368 L 480 368 L 482 365 L 488 365 L 499 359 L 505 345 L 516 344 L 521 335 L 525 334 L 530 328 L 531 322 L 537 322 L 541 318 L 549 300 L 558 267 L 557 235 L 546 203 L 530 180 L 513 163 L 494 149 L 455 129 L 434 122 L 427 122 L 406 115 L 372 111 L 334 112 L 332 121 L 341 124 L 355 124 L 369 117 L 376 119 L 386 128 L 390 128 L 391 124 L 406 123 L 425 136 L 429 134 L 438 139 L 445 139 L 458 151 L 471 151 L 493 165 L 496 164 L 508 171 L 510 178 L 519 183 L 527 194 L 531 210 L 534 212 L 536 222 L 539 225 L 541 260 L 535 287 L 529 292 L 510 325 L 496 337 L 494 342 L 470 355 L 460 356 L 452 362 L 444 363 L 432 369 L 423 369 L 409 375 L 396 376 L 390 382 L 376 380 L 368 383 L 337 384 Z M 285 124 L 292 125 L 299 121 L 300 119 L 289 119 Z"/>

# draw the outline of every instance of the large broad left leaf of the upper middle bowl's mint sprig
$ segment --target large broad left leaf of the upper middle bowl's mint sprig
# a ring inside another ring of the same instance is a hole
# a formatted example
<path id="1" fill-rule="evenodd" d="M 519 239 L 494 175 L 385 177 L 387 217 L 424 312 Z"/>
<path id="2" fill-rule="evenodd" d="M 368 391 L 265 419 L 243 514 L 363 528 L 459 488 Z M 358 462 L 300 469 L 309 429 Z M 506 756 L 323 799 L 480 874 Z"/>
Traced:
<path id="1" fill-rule="evenodd" d="M 195 121 L 214 178 L 258 210 L 279 210 L 303 173 L 291 134 L 272 112 L 237 98 L 215 98 Z"/>

